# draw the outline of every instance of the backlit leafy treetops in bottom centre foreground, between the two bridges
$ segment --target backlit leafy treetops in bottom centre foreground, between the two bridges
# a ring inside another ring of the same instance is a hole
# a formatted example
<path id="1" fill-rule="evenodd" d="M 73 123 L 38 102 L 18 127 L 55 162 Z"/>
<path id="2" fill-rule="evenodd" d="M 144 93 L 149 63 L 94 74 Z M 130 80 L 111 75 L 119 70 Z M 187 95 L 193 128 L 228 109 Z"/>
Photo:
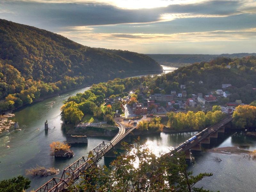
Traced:
<path id="1" fill-rule="evenodd" d="M 196 182 L 212 173 L 200 173 L 196 176 L 187 172 L 184 155 L 157 157 L 147 147 L 138 143 L 124 143 L 126 154 L 122 154 L 106 166 L 92 166 L 83 180 L 71 191 L 207 191 L 195 188 Z"/>

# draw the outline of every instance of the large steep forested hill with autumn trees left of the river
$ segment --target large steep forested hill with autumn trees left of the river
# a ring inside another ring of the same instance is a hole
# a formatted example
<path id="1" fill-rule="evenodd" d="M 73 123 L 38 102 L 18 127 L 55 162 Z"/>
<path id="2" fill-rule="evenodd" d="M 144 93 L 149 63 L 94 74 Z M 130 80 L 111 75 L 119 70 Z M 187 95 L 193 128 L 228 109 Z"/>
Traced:
<path id="1" fill-rule="evenodd" d="M 0 100 L 6 101 L 0 103 L 2 111 L 85 83 L 134 76 L 131 70 L 145 67 L 161 69 L 143 54 L 91 48 L 0 19 Z"/>

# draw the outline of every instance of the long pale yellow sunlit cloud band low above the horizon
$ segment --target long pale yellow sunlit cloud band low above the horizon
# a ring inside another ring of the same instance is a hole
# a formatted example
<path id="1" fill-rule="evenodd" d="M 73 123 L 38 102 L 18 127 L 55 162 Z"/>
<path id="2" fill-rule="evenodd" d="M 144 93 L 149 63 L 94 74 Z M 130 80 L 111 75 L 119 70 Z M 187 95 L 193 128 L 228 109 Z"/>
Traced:
<path id="1" fill-rule="evenodd" d="M 144 33 L 87 33 L 86 36 L 82 31 L 74 33 L 61 32 L 60 35 L 67 36 L 68 38 L 80 42 L 86 42 L 90 46 L 90 42 L 101 43 L 125 43 L 125 44 L 145 44 L 145 43 L 172 43 L 172 42 L 215 42 L 215 41 L 245 41 L 255 40 L 256 28 L 237 31 L 206 31 L 206 32 L 192 32 L 192 33 L 174 33 L 174 34 L 144 34 Z"/>

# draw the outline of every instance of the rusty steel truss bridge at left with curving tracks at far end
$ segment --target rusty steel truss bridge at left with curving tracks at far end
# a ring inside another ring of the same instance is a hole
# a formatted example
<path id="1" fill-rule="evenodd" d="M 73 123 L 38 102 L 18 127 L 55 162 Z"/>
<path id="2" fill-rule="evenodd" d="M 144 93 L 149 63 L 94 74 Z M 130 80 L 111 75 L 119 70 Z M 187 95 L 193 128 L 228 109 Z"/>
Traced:
<path id="1" fill-rule="evenodd" d="M 68 187 L 68 184 L 74 183 L 79 176 L 84 174 L 84 171 L 90 168 L 93 164 L 97 162 L 107 154 L 114 146 L 123 140 L 131 131 L 133 131 L 137 126 L 125 130 L 125 126 L 118 121 L 115 121 L 118 124 L 119 132 L 116 136 L 109 141 L 102 141 L 98 146 L 93 148 L 88 157 L 82 156 L 73 164 L 69 165 L 66 169 L 63 170 L 61 178 L 52 178 L 46 182 L 43 186 L 38 188 L 35 192 L 60 192 L 64 188 Z"/>

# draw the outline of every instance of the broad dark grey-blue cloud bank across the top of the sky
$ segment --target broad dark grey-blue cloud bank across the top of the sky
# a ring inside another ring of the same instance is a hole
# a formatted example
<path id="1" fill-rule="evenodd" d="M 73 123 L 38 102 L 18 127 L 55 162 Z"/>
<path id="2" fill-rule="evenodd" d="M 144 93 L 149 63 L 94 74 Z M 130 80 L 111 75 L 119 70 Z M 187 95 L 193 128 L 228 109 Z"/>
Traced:
<path id="1" fill-rule="evenodd" d="M 132 0 L 135 1 L 135 0 Z M 137 0 L 138 1 L 138 0 Z M 24 24 L 36 23 L 36 27 L 49 28 L 68 26 L 95 26 L 123 23 L 154 23 L 184 18 L 215 18 L 255 13 L 256 3 L 247 0 L 231 1 L 164 1 L 158 0 L 159 6 L 150 9 L 124 9 L 117 7 L 117 2 L 131 3 L 131 0 L 122 1 L 76 1 L 76 3 L 60 3 L 61 1 L 3 1 L 2 10 L 13 14 L 0 13 L 0 17 Z M 56 3 L 59 2 L 59 3 Z M 74 2 L 63 0 L 62 2 Z M 96 3 L 92 3 L 96 2 Z M 105 3 L 102 3 L 105 2 Z M 138 2 L 144 2 L 140 0 Z M 148 1 L 151 4 L 154 1 Z M 150 3 L 151 2 L 151 3 Z M 182 4 L 178 4 L 178 2 Z M 155 4 L 155 3 L 154 3 Z M 27 22 L 24 22 L 27 21 Z M 35 26 L 35 25 L 34 25 Z"/>

